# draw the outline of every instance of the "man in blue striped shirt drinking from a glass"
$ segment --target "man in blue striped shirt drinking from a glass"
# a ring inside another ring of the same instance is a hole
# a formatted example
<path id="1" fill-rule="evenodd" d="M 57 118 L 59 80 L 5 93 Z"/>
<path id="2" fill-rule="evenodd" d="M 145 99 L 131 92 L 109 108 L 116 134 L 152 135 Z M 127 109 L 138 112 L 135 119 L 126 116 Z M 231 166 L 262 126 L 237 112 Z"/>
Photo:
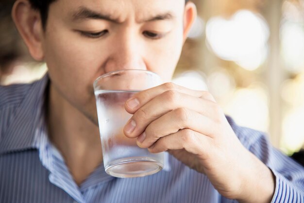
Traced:
<path id="1" fill-rule="evenodd" d="M 17 0 L 12 16 L 49 70 L 31 85 L 0 89 L 0 202 L 304 202 L 300 165 L 225 118 L 208 92 L 171 83 L 125 105 L 134 114 L 125 135 L 168 151 L 165 169 L 134 179 L 105 174 L 93 81 L 127 68 L 169 81 L 196 17 L 193 3 Z"/>

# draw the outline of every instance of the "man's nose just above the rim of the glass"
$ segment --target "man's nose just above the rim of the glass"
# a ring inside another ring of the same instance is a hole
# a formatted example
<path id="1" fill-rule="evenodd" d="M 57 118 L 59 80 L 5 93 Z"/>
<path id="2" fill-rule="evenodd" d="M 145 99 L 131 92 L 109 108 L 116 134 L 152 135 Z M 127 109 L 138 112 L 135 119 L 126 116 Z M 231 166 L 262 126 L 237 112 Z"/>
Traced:
<path id="1" fill-rule="evenodd" d="M 112 38 L 105 72 L 122 69 L 147 69 L 140 36 L 131 30 L 115 34 Z"/>

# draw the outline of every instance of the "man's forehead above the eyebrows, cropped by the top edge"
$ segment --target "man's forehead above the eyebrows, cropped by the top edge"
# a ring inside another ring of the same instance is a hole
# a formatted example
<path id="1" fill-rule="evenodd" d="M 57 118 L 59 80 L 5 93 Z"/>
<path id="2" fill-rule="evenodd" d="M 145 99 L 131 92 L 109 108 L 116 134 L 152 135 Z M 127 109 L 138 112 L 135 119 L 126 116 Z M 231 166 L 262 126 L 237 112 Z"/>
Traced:
<path id="1" fill-rule="evenodd" d="M 135 20 L 153 15 L 171 13 L 183 16 L 185 0 L 57 0 L 50 5 L 58 14 L 73 16 L 82 8 L 105 13 L 123 21 L 133 16 Z"/>

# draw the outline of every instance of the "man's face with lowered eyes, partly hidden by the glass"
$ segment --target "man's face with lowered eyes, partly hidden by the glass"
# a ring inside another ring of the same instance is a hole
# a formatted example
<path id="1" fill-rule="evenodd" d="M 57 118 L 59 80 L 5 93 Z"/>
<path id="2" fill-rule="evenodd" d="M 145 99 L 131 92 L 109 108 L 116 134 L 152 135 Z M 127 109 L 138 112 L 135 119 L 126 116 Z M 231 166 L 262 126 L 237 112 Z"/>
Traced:
<path id="1" fill-rule="evenodd" d="M 43 35 L 52 85 L 97 123 L 93 82 L 118 69 L 169 81 L 183 45 L 185 0 L 57 0 Z"/>

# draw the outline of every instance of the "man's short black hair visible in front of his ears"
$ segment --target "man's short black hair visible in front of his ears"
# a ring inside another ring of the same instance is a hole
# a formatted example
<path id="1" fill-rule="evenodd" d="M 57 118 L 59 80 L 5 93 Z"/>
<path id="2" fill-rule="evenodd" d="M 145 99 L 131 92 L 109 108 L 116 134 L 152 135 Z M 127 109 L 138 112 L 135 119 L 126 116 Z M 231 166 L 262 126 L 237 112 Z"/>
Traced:
<path id="1" fill-rule="evenodd" d="M 42 26 L 45 29 L 47 19 L 48 19 L 48 13 L 49 13 L 49 7 L 50 4 L 56 0 L 29 0 L 32 7 L 39 11 L 41 16 L 41 22 Z M 185 0 L 187 3 L 189 0 Z"/>

